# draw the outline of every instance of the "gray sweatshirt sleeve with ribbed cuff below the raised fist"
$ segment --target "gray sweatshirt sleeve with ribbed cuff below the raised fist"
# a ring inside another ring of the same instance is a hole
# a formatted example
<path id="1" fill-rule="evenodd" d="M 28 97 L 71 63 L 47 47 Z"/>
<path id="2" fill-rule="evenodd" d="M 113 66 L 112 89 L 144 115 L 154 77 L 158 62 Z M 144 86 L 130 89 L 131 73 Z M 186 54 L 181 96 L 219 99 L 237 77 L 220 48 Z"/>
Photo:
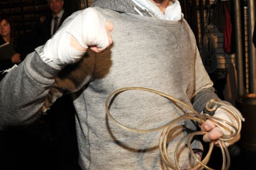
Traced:
<path id="1" fill-rule="evenodd" d="M 0 130 L 40 118 L 40 107 L 58 72 L 44 63 L 37 51 L 9 71 L 0 82 Z"/>

